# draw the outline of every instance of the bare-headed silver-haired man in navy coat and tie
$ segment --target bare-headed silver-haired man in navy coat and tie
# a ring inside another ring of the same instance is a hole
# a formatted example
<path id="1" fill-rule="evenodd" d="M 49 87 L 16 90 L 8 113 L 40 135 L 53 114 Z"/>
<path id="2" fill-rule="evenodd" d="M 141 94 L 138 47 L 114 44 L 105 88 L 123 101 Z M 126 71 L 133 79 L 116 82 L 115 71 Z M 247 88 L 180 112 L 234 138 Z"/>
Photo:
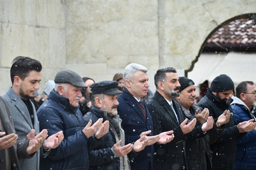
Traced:
<path id="1" fill-rule="evenodd" d="M 118 114 L 122 119 L 121 126 L 125 133 L 125 144 L 132 143 L 143 135 L 142 132 L 151 131 L 147 136 L 147 146 L 131 161 L 132 169 L 152 169 L 154 157 L 154 143 L 165 144 L 171 141 L 173 131 L 159 133 L 154 136 L 153 122 L 143 97 L 150 87 L 147 68 L 143 65 L 131 63 L 123 72 L 124 89 L 118 97 Z"/>

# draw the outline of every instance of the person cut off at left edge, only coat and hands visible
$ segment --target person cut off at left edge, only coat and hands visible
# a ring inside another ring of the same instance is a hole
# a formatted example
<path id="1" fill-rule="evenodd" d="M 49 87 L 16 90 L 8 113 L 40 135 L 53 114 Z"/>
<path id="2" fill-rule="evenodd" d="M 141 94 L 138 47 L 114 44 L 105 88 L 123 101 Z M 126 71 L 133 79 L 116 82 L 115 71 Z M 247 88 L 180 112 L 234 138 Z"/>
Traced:
<path id="1" fill-rule="evenodd" d="M 45 134 L 41 133 L 41 136 Z M 38 136 L 40 138 L 40 136 Z M 18 159 L 33 157 L 40 147 L 37 139 L 17 140 L 10 108 L 0 96 L 0 167 L 1 169 L 20 169 Z M 32 154 L 30 154 L 32 153 Z"/>

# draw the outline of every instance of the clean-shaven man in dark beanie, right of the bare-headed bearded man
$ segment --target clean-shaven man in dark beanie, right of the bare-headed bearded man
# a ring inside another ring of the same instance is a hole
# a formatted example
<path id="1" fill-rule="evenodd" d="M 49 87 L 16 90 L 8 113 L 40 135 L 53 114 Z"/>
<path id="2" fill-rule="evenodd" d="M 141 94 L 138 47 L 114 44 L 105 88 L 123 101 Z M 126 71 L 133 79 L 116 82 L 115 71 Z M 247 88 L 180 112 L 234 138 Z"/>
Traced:
<path id="1" fill-rule="evenodd" d="M 207 108 L 202 109 L 195 104 L 196 88 L 193 80 L 186 77 L 179 77 L 180 95 L 176 97 L 176 101 L 181 105 L 185 117 L 193 119 L 197 118 L 197 125 L 205 124 L 210 121 L 209 111 Z M 209 129 L 205 134 L 196 140 L 186 141 L 186 162 L 191 169 L 212 169 L 210 143 L 214 142 L 223 132 L 221 126 L 229 120 L 230 113 L 224 112 L 218 119 L 215 119 L 216 124 L 212 129 Z M 211 117 L 212 119 L 212 117 Z M 212 119 L 213 121 L 213 119 Z"/>

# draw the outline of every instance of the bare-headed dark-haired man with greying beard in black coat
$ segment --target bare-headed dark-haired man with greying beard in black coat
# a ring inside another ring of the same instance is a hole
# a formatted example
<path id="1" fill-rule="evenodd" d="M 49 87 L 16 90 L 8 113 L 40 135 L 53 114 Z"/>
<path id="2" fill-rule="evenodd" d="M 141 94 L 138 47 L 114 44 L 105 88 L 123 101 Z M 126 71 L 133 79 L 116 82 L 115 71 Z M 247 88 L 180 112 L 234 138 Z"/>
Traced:
<path id="1" fill-rule="evenodd" d="M 179 96 L 179 77 L 173 67 L 157 70 L 155 74 L 156 93 L 148 102 L 156 134 L 173 130 L 175 138 L 164 145 L 156 145 L 154 169 L 188 169 L 186 164 L 185 141 L 204 136 L 211 124 L 196 125 L 196 118 L 184 117 L 181 106 L 174 101 Z M 213 121 L 213 120 L 212 120 Z"/>

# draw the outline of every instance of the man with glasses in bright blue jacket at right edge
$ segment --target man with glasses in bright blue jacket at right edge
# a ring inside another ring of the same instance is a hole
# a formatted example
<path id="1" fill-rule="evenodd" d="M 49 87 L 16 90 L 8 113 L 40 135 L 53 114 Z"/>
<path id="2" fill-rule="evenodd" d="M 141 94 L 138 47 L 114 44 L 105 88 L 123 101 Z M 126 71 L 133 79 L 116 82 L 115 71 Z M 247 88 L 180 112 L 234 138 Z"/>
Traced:
<path id="1" fill-rule="evenodd" d="M 253 119 L 256 121 L 256 86 L 251 81 L 243 81 L 236 88 L 231 107 L 238 123 Z M 237 139 L 237 154 L 234 169 L 256 169 L 256 131 L 248 132 Z"/>

